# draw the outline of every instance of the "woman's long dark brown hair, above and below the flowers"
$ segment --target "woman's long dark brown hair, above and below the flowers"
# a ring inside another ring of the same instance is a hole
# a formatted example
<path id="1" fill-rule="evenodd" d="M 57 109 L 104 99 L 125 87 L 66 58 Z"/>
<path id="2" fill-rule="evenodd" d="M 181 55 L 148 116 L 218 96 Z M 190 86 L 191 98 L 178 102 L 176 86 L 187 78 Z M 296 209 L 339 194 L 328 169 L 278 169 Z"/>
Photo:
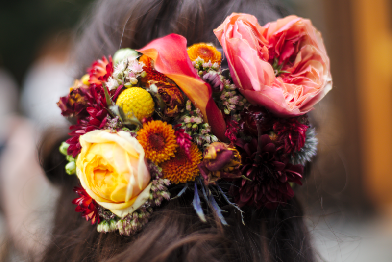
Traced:
<path id="1" fill-rule="evenodd" d="M 75 61 L 77 76 L 102 55 L 124 47 L 141 48 L 152 39 L 177 33 L 188 45 L 197 42 L 219 44 L 213 34 L 232 12 L 255 15 L 260 24 L 282 16 L 272 0 L 106 0 L 99 2 L 93 16 L 79 31 Z M 59 139 L 58 141 L 64 140 Z M 44 141 L 41 163 L 49 179 L 61 185 L 51 241 L 42 261 L 127 261 L 127 262 L 312 262 L 314 256 L 303 222 L 303 212 L 294 198 L 276 210 L 244 208 L 241 216 L 220 203 L 228 226 L 210 212 L 203 223 L 192 208 L 193 193 L 164 202 L 150 222 L 134 236 L 98 233 L 97 225 L 74 212 L 71 203 L 75 176 L 64 171 L 65 159 L 58 152 L 60 142 Z M 176 194 L 172 188 L 171 193 Z M 206 213 L 208 207 L 204 207 Z"/>

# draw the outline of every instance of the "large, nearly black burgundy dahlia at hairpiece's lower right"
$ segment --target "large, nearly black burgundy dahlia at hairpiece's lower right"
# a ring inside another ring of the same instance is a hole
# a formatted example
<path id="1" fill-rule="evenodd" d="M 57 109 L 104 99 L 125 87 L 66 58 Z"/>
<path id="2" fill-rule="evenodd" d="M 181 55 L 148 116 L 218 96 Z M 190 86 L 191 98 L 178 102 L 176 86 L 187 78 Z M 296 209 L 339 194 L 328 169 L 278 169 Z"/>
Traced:
<path id="1" fill-rule="evenodd" d="M 302 185 L 303 166 L 277 161 L 276 146 L 267 134 L 249 143 L 239 138 L 236 147 L 241 154 L 241 173 L 249 179 L 240 178 L 230 188 L 240 207 L 274 209 L 294 196 L 289 182 Z"/>

